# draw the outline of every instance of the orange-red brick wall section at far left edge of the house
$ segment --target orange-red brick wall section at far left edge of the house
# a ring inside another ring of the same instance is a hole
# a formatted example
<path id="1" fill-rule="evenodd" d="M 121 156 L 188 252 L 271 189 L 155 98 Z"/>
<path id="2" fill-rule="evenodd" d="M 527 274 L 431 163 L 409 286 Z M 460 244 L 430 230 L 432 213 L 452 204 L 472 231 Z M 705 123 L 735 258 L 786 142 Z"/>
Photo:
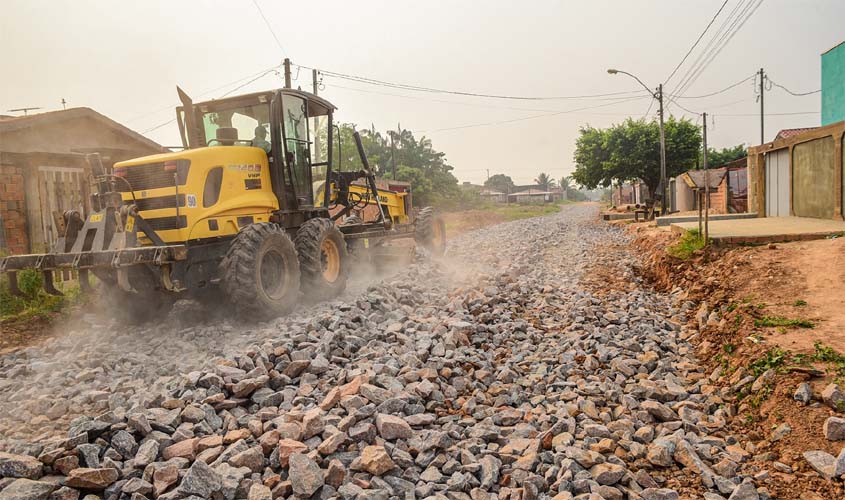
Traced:
<path id="1" fill-rule="evenodd" d="M 23 169 L 14 165 L 0 165 L 0 220 L 2 220 L 2 250 L 12 254 L 27 253 L 26 200 Z"/>

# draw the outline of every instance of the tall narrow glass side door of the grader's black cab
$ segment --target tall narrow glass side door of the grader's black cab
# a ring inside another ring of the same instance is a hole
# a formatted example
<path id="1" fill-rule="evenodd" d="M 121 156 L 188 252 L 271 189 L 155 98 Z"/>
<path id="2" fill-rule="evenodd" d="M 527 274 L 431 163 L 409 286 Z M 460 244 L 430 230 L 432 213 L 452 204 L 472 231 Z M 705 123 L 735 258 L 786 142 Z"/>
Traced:
<path id="1" fill-rule="evenodd" d="M 299 207 L 314 206 L 307 106 L 308 103 L 301 97 L 282 94 L 284 161 L 290 168 L 291 184 Z"/>

